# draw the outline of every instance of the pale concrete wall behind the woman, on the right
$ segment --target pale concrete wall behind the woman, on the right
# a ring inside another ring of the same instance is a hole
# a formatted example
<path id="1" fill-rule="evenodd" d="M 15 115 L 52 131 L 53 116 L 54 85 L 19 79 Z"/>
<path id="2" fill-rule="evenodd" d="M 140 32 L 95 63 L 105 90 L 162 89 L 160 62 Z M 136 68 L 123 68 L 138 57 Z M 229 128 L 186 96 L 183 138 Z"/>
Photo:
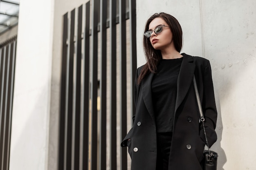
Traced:
<path id="1" fill-rule="evenodd" d="M 137 0 L 138 66 L 142 36 L 153 13 L 166 12 L 184 32 L 182 52 L 211 62 L 218 108 L 218 170 L 256 169 L 256 2 L 254 0 Z"/>

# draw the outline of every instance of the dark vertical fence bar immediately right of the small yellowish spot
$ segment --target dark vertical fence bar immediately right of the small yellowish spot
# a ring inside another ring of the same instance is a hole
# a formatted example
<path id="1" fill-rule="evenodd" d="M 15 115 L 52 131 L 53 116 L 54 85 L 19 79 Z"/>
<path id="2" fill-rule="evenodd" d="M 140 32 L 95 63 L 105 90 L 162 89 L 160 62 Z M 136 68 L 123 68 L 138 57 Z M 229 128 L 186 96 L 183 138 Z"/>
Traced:
<path id="1" fill-rule="evenodd" d="M 100 35 L 101 35 L 101 77 L 100 77 L 100 162 L 99 170 L 106 170 L 106 114 L 107 114 L 107 1 L 101 0 L 100 3 Z"/>

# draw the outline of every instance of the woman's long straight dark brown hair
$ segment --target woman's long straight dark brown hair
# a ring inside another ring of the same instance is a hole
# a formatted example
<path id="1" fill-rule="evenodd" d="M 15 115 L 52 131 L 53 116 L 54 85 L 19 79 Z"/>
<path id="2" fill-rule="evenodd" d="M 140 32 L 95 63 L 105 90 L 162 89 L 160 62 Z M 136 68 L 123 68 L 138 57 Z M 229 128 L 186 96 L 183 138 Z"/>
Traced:
<path id="1" fill-rule="evenodd" d="M 170 26 L 171 32 L 173 34 L 174 47 L 178 52 L 180 52 L 182 49 L 182 29 L 178 20 L 172 15 L 167 13 L 155 13 L 147 20 L 144 33 L 148 31 L 150 22 L 155 18 L 162 18 L 168 24 L 168 26 Z M 141 69 L 141 73 L 137 79 L 137 84 L 141 84 L 142 79 L 149 72 L 156 73 L 157 64 L 159 60 L 162 59 L 161 51 L 155 50 L 151 45 L 149 38 L 146 38 L 145 36 L 143 38 L 143 48 L 147 62 Z"/>

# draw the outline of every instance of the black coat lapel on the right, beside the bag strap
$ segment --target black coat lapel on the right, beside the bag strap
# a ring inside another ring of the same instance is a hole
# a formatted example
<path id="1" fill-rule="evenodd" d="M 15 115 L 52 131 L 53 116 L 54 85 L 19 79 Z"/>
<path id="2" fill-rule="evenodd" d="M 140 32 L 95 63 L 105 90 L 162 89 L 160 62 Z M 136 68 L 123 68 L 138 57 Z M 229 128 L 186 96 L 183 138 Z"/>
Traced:
<path id="1" fill-rule="evenodd" d="M 190 55 L 183 54 L 183 61 L 180 66 L 180 74 L 177 79 L 177 99 L 175 104 L 175 113 L 177 108 L 182 103 L 183 99 L 186 96 L 186 93 L 189 91 L 191 85 L 195 64 L 193 63 L 193 57 Z"/>

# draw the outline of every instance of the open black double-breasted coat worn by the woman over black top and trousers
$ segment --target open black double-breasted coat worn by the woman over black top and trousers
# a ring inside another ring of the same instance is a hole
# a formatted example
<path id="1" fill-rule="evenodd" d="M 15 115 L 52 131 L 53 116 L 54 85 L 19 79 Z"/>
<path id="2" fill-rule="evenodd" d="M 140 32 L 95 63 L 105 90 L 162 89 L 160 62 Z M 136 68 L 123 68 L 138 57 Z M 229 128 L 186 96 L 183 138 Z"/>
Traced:
<path id="1" fill-rule="evenodd" d="M 211 66 L 209 60 L 202 57 L 183 55 L 180 73 L 177 79 L 177 99 L 171 141 L 169 170 L 202 170 L 203 150 L 206 144 L 202 123 L 199 122 L 198 105 L 193 86 L 195 75 L 202 109 L 205 117 L 205 128 L 210 147 L 217 140 L 215 132 L 217 110 L 213 92 Z M 121 143 L 128 146 L 131 156 L 131 170 L 155 170 L 157 159 L 157 138 L 155 113 L 153 109 L 151 81 L 153 73 L 148 74 L 140 85 L 135 78 L 136 113 L 131 130 Z M 128 140 L 130 139 L 130 140 Z"/>

